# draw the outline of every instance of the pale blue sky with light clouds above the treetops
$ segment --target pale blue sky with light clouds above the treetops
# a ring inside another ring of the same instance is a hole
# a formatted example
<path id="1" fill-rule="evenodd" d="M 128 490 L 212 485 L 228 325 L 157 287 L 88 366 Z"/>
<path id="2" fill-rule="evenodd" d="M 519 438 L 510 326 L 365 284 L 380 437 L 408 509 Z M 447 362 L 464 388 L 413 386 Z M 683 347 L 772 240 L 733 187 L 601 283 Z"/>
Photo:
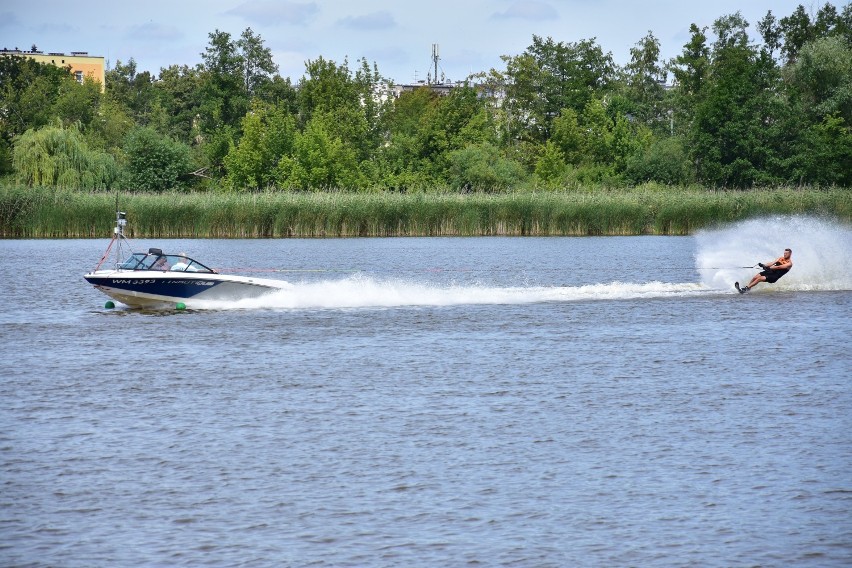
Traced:
<path id="1" fill-rule="evenodd" d="M 845 1 L 835 1 L 838 7 Z M 366 57 L 396 83 L 426 79 L 432 44 L 439 74 L 458 81 L 505 69 L 501 55 L 519 55 L 532 36 L 577 42 L 597 38 L 616 63 L 649 31 L 664 59 L 681 53 L 689 25 L 712 26 L 740 11 L 755 24 L 768 10 L 777 19 L 803 4 L 814 14 L 824 1 L 801 0 L 2 0 L 0 47 L 103 55 L 108 64 L 136 60 L 158 75 L 172 64 L 195 65 L 218 29 L 234 39 L 246 28 L 272 50 L 279 73 L 294 83 L 305 61 L 338 64 Z"/>

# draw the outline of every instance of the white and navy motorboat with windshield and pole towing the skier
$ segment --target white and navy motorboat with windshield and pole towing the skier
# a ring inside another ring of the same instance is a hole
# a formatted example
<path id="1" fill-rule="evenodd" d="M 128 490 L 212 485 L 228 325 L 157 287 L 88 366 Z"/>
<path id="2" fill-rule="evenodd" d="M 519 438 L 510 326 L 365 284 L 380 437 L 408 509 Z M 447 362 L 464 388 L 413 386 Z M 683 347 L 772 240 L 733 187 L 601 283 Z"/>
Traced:
<path id="1" fill-rule="evenodd" d="M 185 253 L 167 254 L 159 248 L 132 252 L 124 236 L 126 224 L 126 213 L 116 211 L 113 238 L 98 265 L 83 278 L 127 306 L 183 308 L 199 301 L 233 302 L 290 286 L 281 280 L 220 274 Z"/>

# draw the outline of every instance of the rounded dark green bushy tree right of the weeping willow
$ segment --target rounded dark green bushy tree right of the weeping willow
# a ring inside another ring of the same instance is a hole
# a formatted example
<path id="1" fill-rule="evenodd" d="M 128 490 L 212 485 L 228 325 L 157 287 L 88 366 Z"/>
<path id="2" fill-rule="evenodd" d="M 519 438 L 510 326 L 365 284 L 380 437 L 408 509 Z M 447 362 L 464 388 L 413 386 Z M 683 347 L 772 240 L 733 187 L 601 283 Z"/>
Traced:
<path id="1" fill-rule="evenodd" d="M 188 186 L 193 164 L 187 145 L 143 126 L 130 131 L 124 151 L 133 189 L 165 191 Z"/>

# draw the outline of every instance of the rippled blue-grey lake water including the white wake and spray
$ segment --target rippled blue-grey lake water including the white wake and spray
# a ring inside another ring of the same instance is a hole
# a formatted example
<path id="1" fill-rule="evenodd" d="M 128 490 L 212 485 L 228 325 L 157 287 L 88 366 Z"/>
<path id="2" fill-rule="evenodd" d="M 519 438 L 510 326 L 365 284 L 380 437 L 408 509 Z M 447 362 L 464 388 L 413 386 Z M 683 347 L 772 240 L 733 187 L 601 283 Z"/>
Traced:
<path id="1" fill-rule="evenodd" d="M 135 244 L 293 286 L 0 241 L 0 565 L 852 564 L 848 226 Z"/>

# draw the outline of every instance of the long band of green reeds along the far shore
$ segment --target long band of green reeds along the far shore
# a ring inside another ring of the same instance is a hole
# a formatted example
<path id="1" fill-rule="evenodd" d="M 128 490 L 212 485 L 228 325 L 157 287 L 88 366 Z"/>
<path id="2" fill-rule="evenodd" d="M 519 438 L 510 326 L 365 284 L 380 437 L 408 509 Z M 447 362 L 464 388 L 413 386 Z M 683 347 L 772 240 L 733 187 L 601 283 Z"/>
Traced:
<path id="1" fill-rule="evenodd" d="M 0 237 L 110 237 L 116 200 L 128 235 L 145 238 L 686 235 L 771 215 L 852 221 L 845 188 L 150 194 L 0 185 Z"/>

